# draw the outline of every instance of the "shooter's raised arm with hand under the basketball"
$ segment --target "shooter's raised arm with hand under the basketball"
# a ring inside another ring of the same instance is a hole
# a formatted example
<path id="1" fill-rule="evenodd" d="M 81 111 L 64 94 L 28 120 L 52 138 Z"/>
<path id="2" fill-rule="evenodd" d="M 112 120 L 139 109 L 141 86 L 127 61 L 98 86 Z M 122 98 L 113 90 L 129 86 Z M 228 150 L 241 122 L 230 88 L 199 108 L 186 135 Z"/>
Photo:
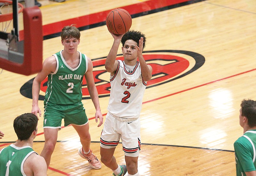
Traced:
<path id="1" fill-rule="evenodd" d="M 117 50 L 120 45 L 120 41 L 124 34 L 122 35 L 116 35 L 111 33 L 111 35 L 114 38 L 114 43 L 108 53 L 106 62 L 105 62 L 105 68 L 107 72 L 110 72 L 111 75 L 114 75 L 117 69 L 118 61 L 116 60 Z"/>

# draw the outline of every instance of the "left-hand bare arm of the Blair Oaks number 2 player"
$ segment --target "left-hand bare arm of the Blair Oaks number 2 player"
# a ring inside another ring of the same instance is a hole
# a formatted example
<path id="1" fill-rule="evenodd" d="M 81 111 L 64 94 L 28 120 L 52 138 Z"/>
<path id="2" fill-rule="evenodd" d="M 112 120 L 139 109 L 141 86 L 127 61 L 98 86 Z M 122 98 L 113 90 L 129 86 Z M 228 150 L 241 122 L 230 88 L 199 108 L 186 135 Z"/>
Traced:
<path id="1" fill-rule="evenodd" d="M 43 63 L 43 68 L 41 70 L 41 72 L 39 72 L 36 75 L 36 78 L 33 81 L 33 85 L 32 85 L 32 110 L 31 113 L 35 114 L 37 116 L 37 113 L 39 114 L 39 116 L 41 117 L 41 110 L 38 106 L 38 98 L 39 98 L 39 92 L 40 92 L 40 86 L 41 86 L 41 82 L 44 81 L 44 79 L 46 78 L 46 76 L 50 73 L 55 72 L 57 67 L 57 62 L 55 60 L 54 56 L 51 56 L 49 58 L 47 58 L 44 63 Z M 38 116 L 37 116 L 38 118 Z M 39 120 L 39 118 L 38 118 Z"/>

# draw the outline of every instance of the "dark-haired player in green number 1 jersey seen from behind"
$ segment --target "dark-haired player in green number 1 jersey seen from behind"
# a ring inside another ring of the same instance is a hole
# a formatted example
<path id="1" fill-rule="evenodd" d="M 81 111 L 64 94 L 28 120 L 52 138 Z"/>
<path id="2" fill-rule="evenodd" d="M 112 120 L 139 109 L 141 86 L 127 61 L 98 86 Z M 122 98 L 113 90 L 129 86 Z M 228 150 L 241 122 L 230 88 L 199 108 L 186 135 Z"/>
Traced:
<path id="1" fill-rule="evenodd" d="M 32 149 L 37 122 L 37 117 L 32 113 L 14 119 L 13 127 L 18 140 L 0 151 L 0 176 L 46 176 L 44 158 Z"/>

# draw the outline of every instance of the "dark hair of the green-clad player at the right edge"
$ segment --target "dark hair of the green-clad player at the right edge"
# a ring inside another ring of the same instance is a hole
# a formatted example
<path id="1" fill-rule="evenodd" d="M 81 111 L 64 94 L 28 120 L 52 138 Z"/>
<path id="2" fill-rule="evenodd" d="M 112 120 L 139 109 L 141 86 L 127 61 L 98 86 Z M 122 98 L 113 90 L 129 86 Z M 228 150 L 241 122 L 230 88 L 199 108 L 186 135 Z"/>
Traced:
<path id="1" fill-rule="evenodd" d="M 256 101 L 243 100 L 241 103 L 242 116 L 248 119 L 248 125 L 250 127 L 256 126 Z"/>

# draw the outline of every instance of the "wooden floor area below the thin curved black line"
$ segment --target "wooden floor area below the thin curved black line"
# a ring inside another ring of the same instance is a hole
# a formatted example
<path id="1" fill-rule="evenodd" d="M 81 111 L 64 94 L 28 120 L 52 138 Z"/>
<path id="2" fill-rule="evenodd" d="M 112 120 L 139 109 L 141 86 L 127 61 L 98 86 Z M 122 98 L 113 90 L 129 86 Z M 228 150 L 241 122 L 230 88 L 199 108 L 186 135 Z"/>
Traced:
<path id="1" fill-rule="evenodd" d="M 68 144 L 69 143 L 69 144 Z M 79 140 L 59 141 L 52 155 L 48 175 L 111 175 L 111 170 L 102 165 L 100 170 L 90 168 L 87 161 L 77 154 Z M 42 150 L 42 142 L 34 143 L 34 148 Z M 91 144 L 93 153 L 100 158 L 100 143 Z M 234 172 L 234 152 L 191 148 L 171 145 L 142 144 L 139 157 L 139 172 L 144 176 L 158 175 L 232 175 Z M 125 164 L 121 144 L 115 151 L 116 160 Z M 149 162 L 150 161 L 150 162 Z M 219 168 L 226 169 L 220 170 Z M 191 169 L 193 168 L 193 169 Z M 65 171 L 65 172 L 64 172 Z"/>

